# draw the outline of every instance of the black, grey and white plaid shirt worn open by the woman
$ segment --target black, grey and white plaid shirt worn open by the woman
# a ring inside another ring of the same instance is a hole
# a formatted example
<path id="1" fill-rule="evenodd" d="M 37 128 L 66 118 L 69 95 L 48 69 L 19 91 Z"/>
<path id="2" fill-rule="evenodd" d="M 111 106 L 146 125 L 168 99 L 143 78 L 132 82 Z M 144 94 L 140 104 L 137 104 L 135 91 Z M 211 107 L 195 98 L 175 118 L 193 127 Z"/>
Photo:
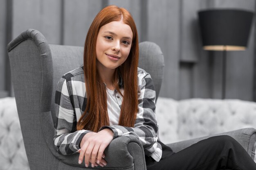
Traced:
<path id="1" fill-rule="evenodd" d="M 117 102 L 121 95 L 117 92 Z M 121 99 L 120 99 L 121 100 Z M 56 150 L 69 155 L 77 153 L 83 136 L 91 131 L 76 131 L 76 124 L 86 107 L 86 89 L 83 67 L 64 74 L 55 94 L 56 124 L 54 145 Z M 155 116 L 155 87 L 150 74 L 138 68 L 138 113 L 134 127 L 103 126 L 114 132 L 114 138 L 135 136 L 144 147 L 145 155 L 155 161 L 162 157 L 162 146 L 157 142 L 158 124 Z M 120 103 L 121 104 L 121 103 Z M 120 105 L 121 107 L 121 105 Z"/>

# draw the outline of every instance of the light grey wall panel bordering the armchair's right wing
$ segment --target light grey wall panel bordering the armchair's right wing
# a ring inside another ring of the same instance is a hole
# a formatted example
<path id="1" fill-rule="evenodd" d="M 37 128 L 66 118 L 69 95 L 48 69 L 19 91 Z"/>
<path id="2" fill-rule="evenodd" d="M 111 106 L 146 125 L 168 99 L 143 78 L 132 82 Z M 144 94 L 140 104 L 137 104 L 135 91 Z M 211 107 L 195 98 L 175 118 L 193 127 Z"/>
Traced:
<path id="1" fill-rule="evenodd" d="M 148 40 L 164 54 L 164 80 L 160 96 L 179 97 L 180 0 L 148 0 Z"/>

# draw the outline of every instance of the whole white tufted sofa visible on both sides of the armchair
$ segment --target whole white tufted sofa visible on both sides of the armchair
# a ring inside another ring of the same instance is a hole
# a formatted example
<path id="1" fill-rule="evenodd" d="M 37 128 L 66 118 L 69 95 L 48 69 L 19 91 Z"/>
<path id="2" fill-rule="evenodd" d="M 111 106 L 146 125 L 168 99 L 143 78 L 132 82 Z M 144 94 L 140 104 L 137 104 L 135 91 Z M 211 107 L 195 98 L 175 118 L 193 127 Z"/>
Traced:
<path id="1" fill-rule="evenodd" d="M 243 100 L 159 97 L 156 115 L 165 144 L 256 128 L 256 103 Z M 0 99 L 0 170 L 29 170 L 14 98 Z"/>

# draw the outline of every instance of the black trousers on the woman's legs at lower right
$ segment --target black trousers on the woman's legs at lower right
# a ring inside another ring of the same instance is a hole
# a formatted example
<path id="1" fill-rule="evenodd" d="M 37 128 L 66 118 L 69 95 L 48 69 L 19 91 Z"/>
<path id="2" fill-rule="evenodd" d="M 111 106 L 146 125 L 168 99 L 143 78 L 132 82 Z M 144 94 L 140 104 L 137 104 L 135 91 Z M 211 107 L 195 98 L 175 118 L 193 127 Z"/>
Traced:
<path id="1" fill-rule="evenodd" d="M 161 145 L 159 162 L 145 157 L 147 170 L 256 170 L 256 163 L 243 146 L 227 135 L 204 139 L 177 153 Z"/>

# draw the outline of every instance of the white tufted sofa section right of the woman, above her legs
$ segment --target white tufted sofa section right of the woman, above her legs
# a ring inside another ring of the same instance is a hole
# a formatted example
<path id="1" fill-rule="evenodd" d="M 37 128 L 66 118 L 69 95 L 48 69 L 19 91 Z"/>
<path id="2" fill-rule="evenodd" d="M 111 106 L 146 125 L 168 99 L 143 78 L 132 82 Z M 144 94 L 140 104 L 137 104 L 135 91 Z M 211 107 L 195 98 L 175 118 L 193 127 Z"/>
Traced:
<path id="1" fill-rule="evenodd" d="M 159 138 L 165 144 L 256 128 L 256 102 L 237 99 L 157 99 Z M 254 159 L 256 161 L 256 159 Z"/>

